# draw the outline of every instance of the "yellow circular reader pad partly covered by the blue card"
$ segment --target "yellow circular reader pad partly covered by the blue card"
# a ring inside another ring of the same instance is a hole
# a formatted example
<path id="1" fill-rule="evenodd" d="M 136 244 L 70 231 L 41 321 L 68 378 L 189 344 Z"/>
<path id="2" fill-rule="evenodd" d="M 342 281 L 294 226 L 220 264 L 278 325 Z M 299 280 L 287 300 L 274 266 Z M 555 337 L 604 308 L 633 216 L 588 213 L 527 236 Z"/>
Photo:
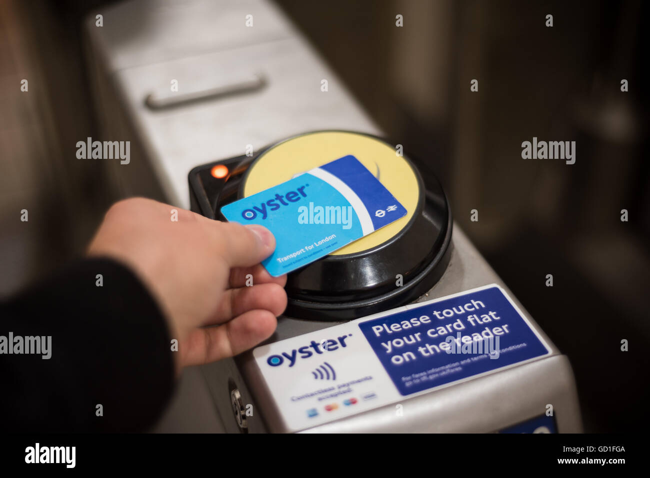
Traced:
<path id="1" fill-rule="evenodd" d="M 400 233 L 411 220 L 420 196 L 415 173 L 391 145 L 354 132 L 320 131 L 296 136 L 263 152 L 252 164 L 244 182 L 244 197 L 289 181 L 294 175 L 330 161 L 353 155 L 377 177 L 406 208 L 406 216 L 378 229 L 331 255 L 372 249 Z"/>

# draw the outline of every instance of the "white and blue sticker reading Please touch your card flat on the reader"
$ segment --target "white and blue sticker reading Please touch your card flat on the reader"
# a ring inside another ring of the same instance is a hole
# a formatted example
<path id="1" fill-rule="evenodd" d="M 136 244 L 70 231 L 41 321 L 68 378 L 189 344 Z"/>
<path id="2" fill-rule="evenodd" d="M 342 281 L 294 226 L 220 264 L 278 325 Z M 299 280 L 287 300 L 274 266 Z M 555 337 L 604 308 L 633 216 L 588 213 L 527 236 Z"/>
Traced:
<path id="1" fill-rule="evenodd" d="M 550 354 L 497 284 L 253 350 L 291 431 Z"/>

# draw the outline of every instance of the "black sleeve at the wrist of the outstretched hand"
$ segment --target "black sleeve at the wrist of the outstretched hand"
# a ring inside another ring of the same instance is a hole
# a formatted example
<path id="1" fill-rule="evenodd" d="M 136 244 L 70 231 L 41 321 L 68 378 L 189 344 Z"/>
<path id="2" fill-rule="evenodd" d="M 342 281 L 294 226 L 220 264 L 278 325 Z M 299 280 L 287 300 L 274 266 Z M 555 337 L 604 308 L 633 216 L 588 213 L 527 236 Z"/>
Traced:
<path id="1" fill-rule="evenodd" d="M 174 388 L 170 340 L 128 268 L 76 262 L 0 303 L 0 430 L 146 431 Z"/>

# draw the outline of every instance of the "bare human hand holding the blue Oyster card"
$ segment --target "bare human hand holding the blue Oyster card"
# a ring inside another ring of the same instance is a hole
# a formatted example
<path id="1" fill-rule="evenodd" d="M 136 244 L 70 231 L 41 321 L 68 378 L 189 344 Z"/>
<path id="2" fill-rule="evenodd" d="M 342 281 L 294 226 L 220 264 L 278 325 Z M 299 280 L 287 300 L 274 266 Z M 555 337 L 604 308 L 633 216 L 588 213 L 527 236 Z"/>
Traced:
<path id="1" fill-rule="evenodd" d="M 133 198 L 109 209 L 88 255 L 123 262 L 148 286 L 178 340 L 182 368 L 232 357 L 274 332 L 287 307 L 287 276 L 272 277 L 260 264 L 274 249 L 265 227 Z"/>

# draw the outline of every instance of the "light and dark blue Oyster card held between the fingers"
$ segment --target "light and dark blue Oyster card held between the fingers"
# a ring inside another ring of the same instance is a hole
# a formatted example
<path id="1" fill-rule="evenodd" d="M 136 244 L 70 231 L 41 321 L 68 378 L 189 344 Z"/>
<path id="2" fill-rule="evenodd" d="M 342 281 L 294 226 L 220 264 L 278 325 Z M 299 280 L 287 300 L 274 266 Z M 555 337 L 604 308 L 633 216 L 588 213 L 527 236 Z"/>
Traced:
<path id="1" fill-rule="evenodd" d="M 352 156 L 221 208 L 229 221 L 259 224 L 276 238 L 263 260 L 277 277 L 341 249 L 404 216 L 406 209 Z"/>

